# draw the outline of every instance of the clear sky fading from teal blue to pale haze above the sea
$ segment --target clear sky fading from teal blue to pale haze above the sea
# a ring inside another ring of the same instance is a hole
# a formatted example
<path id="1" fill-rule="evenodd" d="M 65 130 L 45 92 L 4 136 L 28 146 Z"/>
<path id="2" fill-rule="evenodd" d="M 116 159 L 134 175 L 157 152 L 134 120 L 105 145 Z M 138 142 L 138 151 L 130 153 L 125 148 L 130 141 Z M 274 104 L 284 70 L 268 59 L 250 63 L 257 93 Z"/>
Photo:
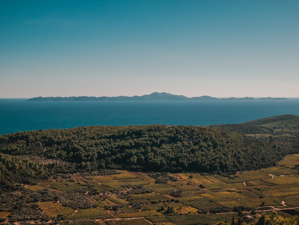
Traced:
<path id="1" fill-rule="evenodd" d="M 0 1 L 0 98 L 299 97 L 298 0 Z"/>

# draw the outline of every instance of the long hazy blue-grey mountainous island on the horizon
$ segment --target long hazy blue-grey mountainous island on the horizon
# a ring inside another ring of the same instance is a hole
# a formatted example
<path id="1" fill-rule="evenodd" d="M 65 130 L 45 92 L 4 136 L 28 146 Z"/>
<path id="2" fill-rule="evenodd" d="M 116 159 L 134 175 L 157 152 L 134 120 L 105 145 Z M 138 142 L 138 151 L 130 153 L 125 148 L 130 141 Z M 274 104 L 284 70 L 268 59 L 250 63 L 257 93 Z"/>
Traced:
<path id="1" fill-rule="evenodd" d="M 149 95 L 143 96 L 117 96 L 117 97 L 87 97 L 87 96 L 80 96 L 80 97 L 35 97 L 25 101 L 55 101 L 55 102 L 66 102 L 66 101 L 187 101 L 187 100 L 287 100 L 286 98 L 258 98 L 255 99 L 253 97 L 245 97 L 245 98 L 215 98 L 211 96 L 200 96 L 200 97 L 192 97 L 188 98 L 184 95 L 173 95 L 166 92 L 154 92 Z"/>

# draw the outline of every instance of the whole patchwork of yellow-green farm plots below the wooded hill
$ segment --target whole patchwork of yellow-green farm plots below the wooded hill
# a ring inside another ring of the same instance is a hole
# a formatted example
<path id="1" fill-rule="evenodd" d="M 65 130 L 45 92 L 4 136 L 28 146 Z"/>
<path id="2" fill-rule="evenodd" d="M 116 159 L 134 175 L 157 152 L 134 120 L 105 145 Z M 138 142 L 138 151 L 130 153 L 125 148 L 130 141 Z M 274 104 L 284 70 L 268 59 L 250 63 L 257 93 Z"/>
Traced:
<path id="1" fill-rule="evenodd" d="M 289 155 L 278 166 L 229 177 L 122 170 L 55 175 L 24 186 L 31 202 L 22 207 L 36 203 L 45 216 L 65 225 L 215 224 L 239 218 L 239 211 L 299 207 L 298 164 L 299 155 Z M 161 176 L 159 182 L 153 178 Z M 43 200 L 34 201 L 35 195 Z M 0 218 L 8 221 L 10 212 L 0 211 Z"/>

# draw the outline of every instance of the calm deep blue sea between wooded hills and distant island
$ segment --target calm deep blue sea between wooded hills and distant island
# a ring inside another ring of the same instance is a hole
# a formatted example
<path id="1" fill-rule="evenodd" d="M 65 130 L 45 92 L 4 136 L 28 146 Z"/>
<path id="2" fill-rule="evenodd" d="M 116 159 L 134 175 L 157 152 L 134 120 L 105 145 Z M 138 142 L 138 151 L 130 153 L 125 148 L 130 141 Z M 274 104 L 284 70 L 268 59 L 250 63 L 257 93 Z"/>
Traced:
<path id="1" fill-rule="evenodd" d="M 0 135 L 78 126 L 213 125 L 282 114 L 299 115 L 288 100 L 26 102 L 0 99 Z"/>

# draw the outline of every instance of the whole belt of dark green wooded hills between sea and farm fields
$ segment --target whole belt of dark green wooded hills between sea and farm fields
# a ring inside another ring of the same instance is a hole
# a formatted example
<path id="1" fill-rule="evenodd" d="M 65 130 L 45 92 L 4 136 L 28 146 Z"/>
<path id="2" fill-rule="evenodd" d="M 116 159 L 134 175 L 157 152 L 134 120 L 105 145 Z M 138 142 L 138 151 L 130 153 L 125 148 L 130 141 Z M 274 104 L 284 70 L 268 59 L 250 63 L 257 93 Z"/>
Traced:
<path id="1" fill-rule="evenodd" d="M 0 179 L 5 182 L 0 185 L 7 189 L 15 182 L 33 183 L 58 171 L 126 169 L 233 174 L 265 168 L 286 154 L 298 153 L 298 117 L 283 115 L 211 128 L 90 126 L 2 135 Z M 293 130 L 274 133 L 275 127 Z M 287 131 L 291 134 L 281 133 Z M 255 138 L 232 132 L 268 136 Z M 40 164 L 42 161 L 46 164 Z M 59 166 L 57 161 L 61 162 Z"/>

